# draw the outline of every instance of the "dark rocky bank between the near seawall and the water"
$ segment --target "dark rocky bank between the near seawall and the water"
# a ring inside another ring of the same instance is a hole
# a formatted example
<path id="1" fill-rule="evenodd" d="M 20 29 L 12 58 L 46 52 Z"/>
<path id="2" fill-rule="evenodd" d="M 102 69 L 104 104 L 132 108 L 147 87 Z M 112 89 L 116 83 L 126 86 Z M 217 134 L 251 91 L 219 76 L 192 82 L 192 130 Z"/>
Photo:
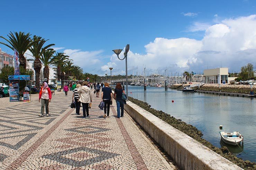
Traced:
<path id="1" fill-rule="evenodd" d="M 204 146 L 208 147 L 209 149 L 213 150 L 214 152 L 220 154 L 222 157 L 230 160 L 231 162 L 237 164 L 239 167 L 243 169 L 248 169 L 248 170 L 256 170 L 256 163 L 255 162 L 250 162 L 248 160 L 244 161 L 241 158 L 237 158 L 236 155 L 232 154 L 229 152 L 227 147 L 222 147 L 222 148 L 217 148 L 214 147 L 210 142 L 207 140 L 203 139 L 203 133 L 198 130 L 196 127 L 192 126 L 191 124 L 187 124 L 180 119 L 176 119 L 170 114 L 167 114 L 163 111 L 158 111 L 156 109 L 151 108 L 151 106 L 143 101 L 134 99 L 132 97 L 129 97 L 129 100 L 132 103 L 137 104 L 139 107 L 147 110 L 148 112 L 154 114 L 156 117 L 159 119 L 162 119 L 166 123 L 170 124 L 172 127 L 182 131 L 183 133 L 187 134 L 191 138 L 197 140 L 198 142 L 202 143 Z"/>

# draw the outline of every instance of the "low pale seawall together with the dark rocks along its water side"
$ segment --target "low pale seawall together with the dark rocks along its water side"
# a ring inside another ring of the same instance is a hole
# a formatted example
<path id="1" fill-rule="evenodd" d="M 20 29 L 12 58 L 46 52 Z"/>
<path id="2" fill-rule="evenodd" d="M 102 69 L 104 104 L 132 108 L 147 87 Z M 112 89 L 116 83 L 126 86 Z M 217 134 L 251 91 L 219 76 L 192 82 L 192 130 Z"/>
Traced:
<path id="1" fill-rule="evenodd" d="M 217 148 L 210 142 L 202 139 L 202 132 L 192 125 L 179 121 L 163 111 L 152 109 L 148 103 L 143 101 L 131 97 L 129 97 L 129 100 L 130 102 L 125 105 L 126 111 L 159 143 L 159 145 L 176 161 L 180 168 L 219 169 L 216 168 L 216 164 L 224 162 L 223 164 L 221 163 L 221 166 L 225 166 L 226 164 L 229 168 L 226 167 L 222 169 L 230 169 L 230 163 L 233 162 L 244 169 L 256 169 L 255 162 L 244 161 L 241 158 L 237 158 L 235 155 L 231 154 L 226 147 Z M 213 157 L 214 159 L 212 159 Z M 209 162 L 215 162 L 213 163 L 215 165 L 213 166 L 212 163 Z M 239 169 L 239 167 L 235 165 L 234 167 L 236 167 L 235 169 Z"/>

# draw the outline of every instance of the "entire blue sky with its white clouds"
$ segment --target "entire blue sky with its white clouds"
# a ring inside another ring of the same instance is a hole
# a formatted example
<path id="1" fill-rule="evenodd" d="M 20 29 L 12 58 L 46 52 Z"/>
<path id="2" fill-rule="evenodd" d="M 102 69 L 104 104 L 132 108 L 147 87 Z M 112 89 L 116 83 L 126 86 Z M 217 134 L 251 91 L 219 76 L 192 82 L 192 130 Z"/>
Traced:
<path id="1" fill-rule="evenodd" d="M 256 68 L 255 0 L 1 0 L 1 7 L 0 36 L 22 31 L 49 39 L 84 72 L 110 74 L 113 67 L 112 75 L 124 75 L 125 60 L 112 50 L 126 44 L 128 74 Z"/>

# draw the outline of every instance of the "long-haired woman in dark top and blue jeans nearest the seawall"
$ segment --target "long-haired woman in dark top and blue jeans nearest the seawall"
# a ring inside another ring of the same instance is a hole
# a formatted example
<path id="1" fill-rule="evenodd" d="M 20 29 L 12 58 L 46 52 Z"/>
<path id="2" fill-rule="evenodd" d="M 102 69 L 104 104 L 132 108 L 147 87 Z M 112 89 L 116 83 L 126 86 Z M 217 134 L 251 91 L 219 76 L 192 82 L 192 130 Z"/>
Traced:
<path id="1" fill-rule="evenodd" d="M 117 102 L 117 117 L 120 118 L 120 107 L 121 107 L 121 117 L 124 116 L 124 100 L 122 99 L 122 93 L 125 91 L 122 88 L 121 83 L 117 83 L 114 93 L 114 99 Z"/>

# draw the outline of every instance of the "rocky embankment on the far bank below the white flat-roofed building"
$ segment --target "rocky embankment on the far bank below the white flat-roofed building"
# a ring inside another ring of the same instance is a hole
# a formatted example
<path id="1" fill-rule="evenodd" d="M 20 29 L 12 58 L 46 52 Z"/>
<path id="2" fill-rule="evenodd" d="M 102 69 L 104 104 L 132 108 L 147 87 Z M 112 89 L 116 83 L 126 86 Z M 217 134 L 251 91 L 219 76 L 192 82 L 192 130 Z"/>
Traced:
<path id="1" fill-rule="evenodd" d="M 241 93 L 241 94 L 250 94 L 250 85 L 244 84 L 221 84 L 219 89 L 219 84 L 204 84 L 199 89 L 198 87 L 194 87 L 196 90 L 204 90 L 204 91 L 221 91 L 227 93 Z M 253 91 L 256 94 L 256 86 L 253 87 Z"/>

